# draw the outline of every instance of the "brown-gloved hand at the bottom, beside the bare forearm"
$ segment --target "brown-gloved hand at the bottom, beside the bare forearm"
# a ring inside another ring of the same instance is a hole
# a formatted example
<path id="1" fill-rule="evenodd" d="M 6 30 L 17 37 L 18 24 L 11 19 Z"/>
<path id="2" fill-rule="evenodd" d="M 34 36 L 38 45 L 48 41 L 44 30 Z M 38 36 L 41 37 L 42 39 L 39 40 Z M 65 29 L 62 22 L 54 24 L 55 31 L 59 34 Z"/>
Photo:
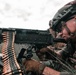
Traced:
<path id="1" fill-rule="evenodd" d="M 24 60 L 23 65 L 25 66 L 26 73 L 32 72 L 37 75 L 41 75 L 45 68 L 45 65 L 34 59 Z"/>

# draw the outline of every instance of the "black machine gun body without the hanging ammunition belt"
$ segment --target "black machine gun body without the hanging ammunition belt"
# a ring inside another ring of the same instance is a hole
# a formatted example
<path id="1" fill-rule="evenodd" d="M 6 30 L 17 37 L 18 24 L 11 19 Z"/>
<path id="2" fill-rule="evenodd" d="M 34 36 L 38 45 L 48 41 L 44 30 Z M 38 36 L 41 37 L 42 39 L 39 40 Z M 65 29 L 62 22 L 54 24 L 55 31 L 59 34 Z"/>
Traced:
<path id="1" fill-rule="evenodd" d="M 53 45 L 54 42 L 64 42 L 64 39 L 54 39 L 48 30 L 32 30 L 32 29 L 16 29 L 16 28 L 0 28 L 0 43 L 3 42 L 3 31 L 15 31 L 16 44 L 34 44 L 38 48 L 45 47 L 47 45 Z"/>

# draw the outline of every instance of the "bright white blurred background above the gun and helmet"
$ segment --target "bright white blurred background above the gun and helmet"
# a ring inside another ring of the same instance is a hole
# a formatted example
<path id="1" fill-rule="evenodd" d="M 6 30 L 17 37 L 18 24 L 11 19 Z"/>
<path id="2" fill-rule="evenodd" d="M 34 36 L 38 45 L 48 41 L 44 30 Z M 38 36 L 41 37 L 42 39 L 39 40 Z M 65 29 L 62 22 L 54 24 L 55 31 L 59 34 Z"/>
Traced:
<path id="1" fill-rule="evenodd" d="M 59 8 L 72 0 L 0 0 L 0 28 L 46 30 Z"/>

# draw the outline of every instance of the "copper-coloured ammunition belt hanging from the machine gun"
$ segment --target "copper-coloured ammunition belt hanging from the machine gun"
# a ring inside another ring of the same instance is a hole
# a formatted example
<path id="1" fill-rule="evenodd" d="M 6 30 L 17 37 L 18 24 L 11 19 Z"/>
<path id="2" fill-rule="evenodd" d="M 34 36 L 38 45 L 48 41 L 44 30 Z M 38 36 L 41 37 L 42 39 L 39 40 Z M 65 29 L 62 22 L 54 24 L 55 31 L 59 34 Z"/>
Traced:
<path id="1" fill-rule="evenodd" d="M 3 73 L 2 75 L 22 75 L 20 66 L 16 60 L 16 55 L 14 51 L 14 31 L 4 31 L 3 36 L 3 46 L 2 46 L 2 59 L 3 59 Z"/>

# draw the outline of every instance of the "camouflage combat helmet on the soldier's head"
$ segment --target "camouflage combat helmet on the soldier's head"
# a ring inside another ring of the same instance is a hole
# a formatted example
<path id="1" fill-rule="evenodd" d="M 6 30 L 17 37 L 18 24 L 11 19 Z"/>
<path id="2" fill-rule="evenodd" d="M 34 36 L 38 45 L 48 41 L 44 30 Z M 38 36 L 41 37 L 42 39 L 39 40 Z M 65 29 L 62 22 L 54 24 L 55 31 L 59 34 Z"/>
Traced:
<path id="1" fill-rule="evenodd" d="M 76 0 L 69 2 L 59 9 L 53 19 L 49 22 L 49 25 L 54 31 L 60 32 L 62 21 L 66 22 L 73 18 L 74 15 L 76 15 Z"/>

